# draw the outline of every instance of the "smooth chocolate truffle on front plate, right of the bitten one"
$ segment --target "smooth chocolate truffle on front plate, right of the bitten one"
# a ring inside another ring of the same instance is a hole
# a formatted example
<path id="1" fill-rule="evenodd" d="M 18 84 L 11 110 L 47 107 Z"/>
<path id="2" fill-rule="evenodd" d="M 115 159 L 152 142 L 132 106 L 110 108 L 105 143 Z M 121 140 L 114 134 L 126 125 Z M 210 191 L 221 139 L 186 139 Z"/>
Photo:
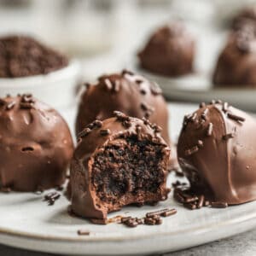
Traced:
<path id="1" fill-rule="evenodd" d="M 191 189 L 229 205 L 256 200 L 256 120 L 227 102 L 185 116 L 178 161 Z"/>

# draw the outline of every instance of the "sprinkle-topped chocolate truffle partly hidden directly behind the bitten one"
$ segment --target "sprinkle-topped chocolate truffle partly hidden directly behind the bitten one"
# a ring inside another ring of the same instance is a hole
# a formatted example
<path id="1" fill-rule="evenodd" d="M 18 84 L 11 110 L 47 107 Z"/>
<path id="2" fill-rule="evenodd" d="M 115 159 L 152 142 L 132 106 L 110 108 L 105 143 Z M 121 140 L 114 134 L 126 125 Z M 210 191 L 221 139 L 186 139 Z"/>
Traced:
<path id="1" fill-rule="evenodd" d="M 160 125 L 162 136 L 170 143 L 168 109 L 159 86 L 127 70 L 103 75 L 95 85 L 87 84 L 79 105 L 76 134 L 95 119 L 112 117 L 115 110 Z"/>

